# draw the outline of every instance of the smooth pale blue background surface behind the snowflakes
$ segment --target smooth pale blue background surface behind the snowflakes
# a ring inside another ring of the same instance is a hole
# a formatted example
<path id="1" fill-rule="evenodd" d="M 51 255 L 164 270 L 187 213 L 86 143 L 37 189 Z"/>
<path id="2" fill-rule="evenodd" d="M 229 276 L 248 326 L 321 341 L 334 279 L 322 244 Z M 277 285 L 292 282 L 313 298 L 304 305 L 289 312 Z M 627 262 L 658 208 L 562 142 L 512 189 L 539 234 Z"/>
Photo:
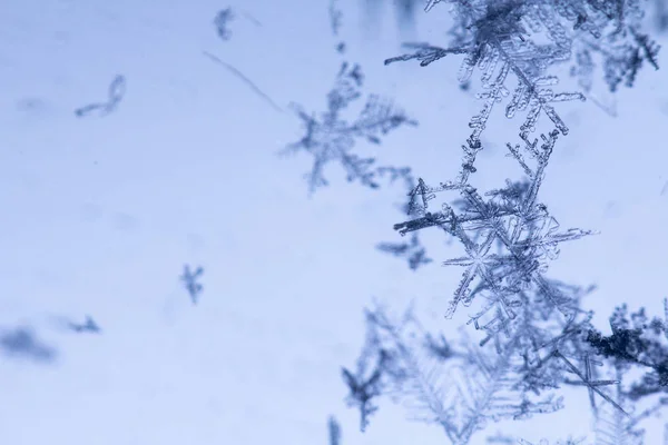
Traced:
<path id="1" fill-rule="evenodd" d="M 372 27 L 357 1 L 340 4 L 366 89 L 420 121 L 360 152 L 431 182 L 452 178 L 480 107 L 456 88 L 461 59 L 382 65 L 401 38 L 442 43 L 445 8 L 419 13 L 416 34 L 401 36 L 390 10 Z M 262 26 L 238 14 L 220 41 L 212 21 L 226 6 Z M 425 234 L 436 261 L 418 273 L 373 248 L 399 238 L 403 189 L 348 185 L 333 167 L 332 187 L 308 199 L 308 156 L 276 156 L 303 135 L 288 102 L 324 109 L 336 42 L 320 0 L 0 3 L 0 326 L 31 326 L 60 353 L 50 366 L 0 357 L 0 444 L 315 445 L 326 443 L 330 414 L 344 445 L 444 443 L 389 404 L 362 435 L 343 404 L 340 366 L 357 356 L 372 297 L 396 310 L 415 299 L 446 333 L 465 318 L 442 319 L 460 270 L 438 266 L 452 256 L 439 234 Z M 658 315 L 668 295 L 666 72 L 646 67 L 618 95 L 617 118 L 591 102 L 560 108 L 571 134 L 542 200 L 564 228 L 601 235 L 562 246 L 549 275 L 597 284 L 584 305 L 603 328 L 615 305 Z M 128 82 L 117 111 L 76 119 L 117 73 Z M 501 115 L 490 125 L 481 188 L 520 177 L 503 158 L 518 125 Z M 197 307 L 178 281 L 184 263 L 206 269 Z M 86 314 L 104 335 L 57 323 Z M 504 431 L 532 441 L 587 433 L 586 393 L 567 402 Z M 647 443 L 658 443 L 661 423 L 649 424 Z"/>

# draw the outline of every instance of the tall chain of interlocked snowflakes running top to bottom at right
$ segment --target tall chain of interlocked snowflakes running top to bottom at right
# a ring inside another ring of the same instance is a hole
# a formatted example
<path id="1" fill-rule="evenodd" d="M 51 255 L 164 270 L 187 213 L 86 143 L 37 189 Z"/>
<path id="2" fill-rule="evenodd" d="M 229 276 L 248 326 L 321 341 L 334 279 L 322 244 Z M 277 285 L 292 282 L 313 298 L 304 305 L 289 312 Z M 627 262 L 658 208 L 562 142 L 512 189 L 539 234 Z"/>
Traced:
<path id="1" fill-rule="evenodd" d="M 642 65 L 658 69 L 658 46 L 640 31 L 640 1 L 430 0 L 425 9 L 438 3 L 454 13 L 449 44 L 410 43 L 412 52 L 385 63 L 418 60 L 426 67 L 449 55 L 461 56 L 462 85 L 471 86 L 473 72 L 480 72 L 477 97 L 482 108 L 469 122 L 455 178 L 438 185 L 419 178 L 409 194 L 411 219 L 394 228 L 402 236 L 436 228 L 461 244 L 463 255 L 442 263 L 463 269 L 445 317 L 471 308 L 468 324 L 482 339 L 456 348 L 446 345 L 448 353 L 439 357 L 412 313 L 395 320 L 384 308 L 367 310 L 370 334 L 357 363 L 362 372 L 344 369 L 350 399 L 361 409 L 363 427 L 377 409 L 374 398 L 389 395 L 407 406 L 413 418 L 441 426 L 452 444 L 464 445 L 490 423 L 560 409 L 557 390 L 569 385 L 588 392 L 597 445 L 641 443 L 639 421 L 668 403 L 659 399 L 646 411 L 633 404 L 633 397 L 668 387 L 666 355 L 647 330 L 662 328 L 656 322 L 632 330 L 616 322 L 611 337 L 595 329 L 592 313 L 581 307 L 592 287 L 547 276 L 562 243 L 593 231 L 561 228 L 539 199 L 549 159 L 569 132 L 558 105 L 597 101 L 595 79 L 602 78 L 613 92 L 621 85 L 631 87 Z M 582 92 L 554 91 L 557 67 L 563 63 L 572 63 L 570 75 Z M 475 160 L 492 110 L 502 102 L 507 118 L 523 115 L 519 140 L 507 144 L 523 178 L 485 192 L 472 184 Z M 458 198 L 434 207 L 443 192 Z M 623 370 L 630 365 L 649 373 L 625 389 Z M 369 369 L 373 372 L 364 380 Z"/>

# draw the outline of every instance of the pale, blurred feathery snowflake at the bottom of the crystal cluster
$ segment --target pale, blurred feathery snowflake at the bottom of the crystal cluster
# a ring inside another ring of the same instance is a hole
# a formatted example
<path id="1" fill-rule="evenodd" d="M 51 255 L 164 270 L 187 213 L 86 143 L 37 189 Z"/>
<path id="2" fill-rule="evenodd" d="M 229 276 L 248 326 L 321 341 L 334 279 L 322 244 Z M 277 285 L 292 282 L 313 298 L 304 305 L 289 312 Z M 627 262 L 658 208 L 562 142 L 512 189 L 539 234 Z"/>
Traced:
<path id="1" fill-rule="evenodd" d="M 376 307 L 366 312 L 366 319 L 372 334 L 363 356 L 382 359 L 373 374 L 375 392 L 365 400 L 392 396 L 413 419 L 443 427 L 453 444 L 469 443 L 489 422 L 529 418 L 562 406 L 553 395 L 532 395 L 518 387 L 524 365 L 515 354 L 518 335 L 501 354 L 468 340 L 456 349 L 441 344 L 440 354 L 434 354 L 433 337 L 411 310 L 394 322 Z"/>

